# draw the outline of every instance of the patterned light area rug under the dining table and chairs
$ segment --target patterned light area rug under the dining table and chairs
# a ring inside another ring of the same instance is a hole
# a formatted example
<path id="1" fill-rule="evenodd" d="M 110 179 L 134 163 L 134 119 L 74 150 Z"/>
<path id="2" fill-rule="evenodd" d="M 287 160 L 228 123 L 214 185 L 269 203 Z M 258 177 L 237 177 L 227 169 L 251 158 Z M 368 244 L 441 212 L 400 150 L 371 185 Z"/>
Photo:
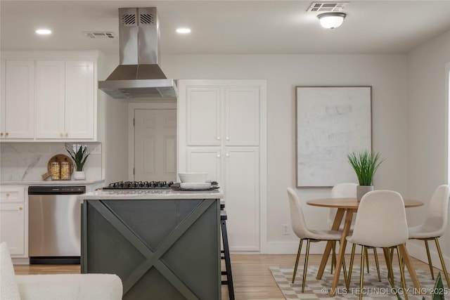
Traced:
<path id="1" fill-rule="evenodd" d="M 293 267 L 269 267 L 269 270 L 274 276 L 274 279 L 283 292 L 285 299 L 359 299 L 361 290 L 359 289 L 359 266 L 354 266 L 352 272 L 352 282 L 349 289 L 345 289 L 344 275 L 341 274 L 340 285 L 336 290 L 335 296 L 330 297 L 331 282 L 333 282 L 333 274 L 330 274 L 330 268 L 326 268 L 322 279 L 316 280 L 318 266 L 308 266 L 307 280 L 304 285 L 304 293 L 302 293 L 302 275 L 303 266 L 298 266 L 297 275 L 295 275 L 295 282 L 292 282 Z M 406 291 L 408 293 L 408 299 L 422 299 L 425 296 L 425 300 L 432 298 L 432 292 L 435 286 L 435 280 L 431 279 L 431 275 L 423 270 L 416 270 L 420 284 L 422 285 L 423 295 L 418 294 L 418 290 L 414 289 L 409 273 L 405 270 L 406 278 Z M 387 281 L 387 269 L 383 268 L 383 264 L 380 264 L 381 282 L 378 281 L 377 270 L 375 266 L 371 266 L 369 273 L 365 269 L 364 273 L 364 288 L 362 293 L 365 300 L 384 300 L 384 299 L 397 299 L 394 292 Z M 436 278 L 437 274 L 435 274 Z M 443 280 L 445 280 L 443 278 Z M 401 299 L 404 299 L 403 289 L 401 289 L 400 272 L 399 268 L 394 268 L 394 286 L 398 289 Z M 446 288 L 446 285 L 444 285 Z M 446 288 L 445 297 L 449 297 L 450 290 Z"/>

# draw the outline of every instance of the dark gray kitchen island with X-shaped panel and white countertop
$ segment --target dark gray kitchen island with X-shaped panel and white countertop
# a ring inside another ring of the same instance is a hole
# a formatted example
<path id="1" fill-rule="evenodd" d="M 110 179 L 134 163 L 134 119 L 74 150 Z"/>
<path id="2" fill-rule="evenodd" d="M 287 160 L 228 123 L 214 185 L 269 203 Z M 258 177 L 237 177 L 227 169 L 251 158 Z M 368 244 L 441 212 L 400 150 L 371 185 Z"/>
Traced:
<path id="1" fill-rule="evenodd" d="M 114 273 L 128 299 L 221 299 L 220 190 L 79 195 L 82 273 Z"/>

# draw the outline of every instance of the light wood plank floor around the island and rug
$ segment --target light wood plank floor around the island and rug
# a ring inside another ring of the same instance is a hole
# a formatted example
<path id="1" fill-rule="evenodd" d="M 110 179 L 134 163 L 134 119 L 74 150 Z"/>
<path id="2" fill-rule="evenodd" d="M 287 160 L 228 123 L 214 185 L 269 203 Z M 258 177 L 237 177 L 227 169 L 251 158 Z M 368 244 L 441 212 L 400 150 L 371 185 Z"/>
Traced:
<path id="1" fill-rule="evenodd" d="M 371 263 L 374 263 L 373 255 L 370 257 Z M 345 259 L 347 260 L 347 256 Z M 320 255 L 310 255 L 308 264 L 318 266 L 320 260 Z M 295 255 L 290 254 L 232 254 L 231 270 L 236 299 L 285 299 L 269 271 L 269 266 L 293 266 L 294 263 Z M 413 265 L 416 269 L 430 272 L 428 264 L 417 259 L 413 259 Z M 380 256 L 380 266 L 384 266 L 383 256 Z M 15 265 L 14 269 L 16 275 L 80 272 L 79 265 Z M 438 272 L 439 270 L 435 269 L 435 274 Z M 222 299 L 228 299 L 228 289 L 225 285 L 222 286 Z"/>

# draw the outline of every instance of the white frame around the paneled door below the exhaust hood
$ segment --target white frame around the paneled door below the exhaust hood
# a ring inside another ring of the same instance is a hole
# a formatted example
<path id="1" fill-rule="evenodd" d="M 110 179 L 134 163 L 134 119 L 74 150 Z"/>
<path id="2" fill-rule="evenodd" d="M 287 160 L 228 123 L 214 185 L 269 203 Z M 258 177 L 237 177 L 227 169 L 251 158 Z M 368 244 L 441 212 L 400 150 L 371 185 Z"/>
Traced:
<path id="1" fill-rule="evenodd" d="M 176 110 L 176 100 L 142 100 L 128 103 L 128 163 L 129 181 L 134 181 L 134 110 Z M 178 137 L 176 138 L 178 152 Z"/>

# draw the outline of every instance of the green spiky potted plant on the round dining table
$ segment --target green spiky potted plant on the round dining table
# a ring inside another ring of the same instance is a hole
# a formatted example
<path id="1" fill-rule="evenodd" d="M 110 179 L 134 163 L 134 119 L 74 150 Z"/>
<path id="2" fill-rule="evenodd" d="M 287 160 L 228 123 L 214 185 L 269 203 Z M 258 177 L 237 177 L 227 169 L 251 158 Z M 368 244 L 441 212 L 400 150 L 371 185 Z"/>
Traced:
<path id="1" fill-rule="evenodd" d="M 359 181 L 359 185 L 356 187 L 356 199 L 359 202 L 365 193 L 373 190 L 373 175 L 385 159 L 380 159 L 378 152 L 373 153 L 367 150 L 349 153 L 347 158 Z"/>

